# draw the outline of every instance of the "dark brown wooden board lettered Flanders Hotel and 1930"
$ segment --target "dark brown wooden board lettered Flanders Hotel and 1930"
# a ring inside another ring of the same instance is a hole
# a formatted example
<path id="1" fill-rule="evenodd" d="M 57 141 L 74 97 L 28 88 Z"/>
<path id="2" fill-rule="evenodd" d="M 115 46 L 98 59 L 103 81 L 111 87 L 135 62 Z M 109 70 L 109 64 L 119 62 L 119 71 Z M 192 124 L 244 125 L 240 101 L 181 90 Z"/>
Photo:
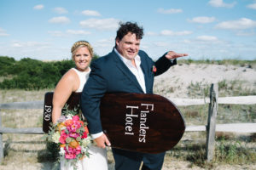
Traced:
<path id="1" fill-rule="evenodd" d="M 44 132 L 51 122 L 52 93 L 45 94 Z M 71 95 L 71 109 L 80 94 Z M 105 94 L 101 101 L 103 132 L 113 148 L 143 153 L 172 149 L 185 131 L 183 116 L 168 99 L 156 94 Z M 45 117 L 46 120 L 45 120 Z"/>

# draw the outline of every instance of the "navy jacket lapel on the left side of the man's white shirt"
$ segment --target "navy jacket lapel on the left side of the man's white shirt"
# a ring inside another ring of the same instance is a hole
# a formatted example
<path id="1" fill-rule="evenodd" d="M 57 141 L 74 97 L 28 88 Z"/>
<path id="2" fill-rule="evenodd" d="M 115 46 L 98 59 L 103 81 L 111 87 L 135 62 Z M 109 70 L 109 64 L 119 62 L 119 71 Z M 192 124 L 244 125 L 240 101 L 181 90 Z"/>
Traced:
<path id="1" fill-rule="evenodd" d="M 143 92 L 143 88 L 141 88 L 140 84 L 137 82 L 137 78 L 134 76 L 134 74 L 128 69 L 128 67 L 125 65 L 125 63 L 119 59 L 118 54 L 112 51 L 113 58 L 115 61 L 116 66 L 119 68 L 119 70 L 125 75 L 125 77 L 129 78 L 133 84 L 136 85 L 136 87 Z"/>

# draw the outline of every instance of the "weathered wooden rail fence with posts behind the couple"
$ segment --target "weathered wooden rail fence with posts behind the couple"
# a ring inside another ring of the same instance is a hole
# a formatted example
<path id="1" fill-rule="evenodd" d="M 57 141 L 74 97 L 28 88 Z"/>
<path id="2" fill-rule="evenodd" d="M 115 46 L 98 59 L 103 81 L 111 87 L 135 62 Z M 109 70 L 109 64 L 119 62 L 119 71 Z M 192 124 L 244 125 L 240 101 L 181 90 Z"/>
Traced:
<path id="1" fill-rule="evenodd" d="M 256 105 L 256 96 L 239 96 L 218 98 L 218 84 L 212 84 L 210 97 L 206 99 L 176 99 L 169 98 L 177 106 L 186 105 L 206 105 L 208 107 L 207 125 L 187 126 L 186 132 L 207 131 L 207 161 L 212 161 L 214 156 L 215 132 L 234 132 L 234 133 L 256 133 L 256 123 L 230 123 L 216 124 L 218 104 L 231 105 Z M 3 133 L 26 133 L 44 134 L 42 127 L 30 128 L 10 128 L 2 127 L 1 109 L 44 109 L 44 101 L 15 102 L 0 104 L 0 162 L 3 160 Z"/>

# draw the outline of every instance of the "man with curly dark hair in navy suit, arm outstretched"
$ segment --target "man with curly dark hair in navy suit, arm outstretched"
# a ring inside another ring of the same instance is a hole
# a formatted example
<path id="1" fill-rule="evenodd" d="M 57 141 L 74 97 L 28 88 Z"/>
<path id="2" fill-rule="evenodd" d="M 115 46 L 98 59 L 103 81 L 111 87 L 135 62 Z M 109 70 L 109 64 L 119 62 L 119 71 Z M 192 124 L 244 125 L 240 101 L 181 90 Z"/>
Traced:
<path id="1" fill-rule="evenodd" d="M 143 38 L 143 28 L 137 23 L 120 23 L 113 51 L 90 66 L 91 72 L 81 95 L 81 108 L 88 121 L 89 131 L 98 147 L 110 146 L 107 136 L 102 132 L 100 103 L 107 93 L 153 94 L 154 76 L 167 71 L 177 64 L 177 54 L 169 51 L 154 62 L 144 51 L 139 50 Z M 109 113 L 109 116 L 112 116 Z M 114 117 L 113 117 L 114 118 Z M 145 154 L 112 148 L 117 170 L 161 169 L 165 152 Z"/>

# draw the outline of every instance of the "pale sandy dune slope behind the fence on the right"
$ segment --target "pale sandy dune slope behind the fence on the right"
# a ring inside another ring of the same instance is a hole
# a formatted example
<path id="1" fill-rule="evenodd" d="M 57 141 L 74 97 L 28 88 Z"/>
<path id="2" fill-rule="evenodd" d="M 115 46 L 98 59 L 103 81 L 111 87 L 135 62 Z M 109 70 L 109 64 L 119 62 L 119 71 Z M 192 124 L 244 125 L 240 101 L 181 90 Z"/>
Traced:
<path id="1" fill-rule="evenodd" d="M 243 88 L 256 88 L 256 69 L 239 65 L 174 65 L 164 74 L 155 77 L 154 91 L 165 97 L 186 98 L 191 83 L 197 82 L 203 87 L 206 84 L 236 80 L 242 82 Z M 168 93 L 166 88 L 172 88 L 173 92 Z"/>

